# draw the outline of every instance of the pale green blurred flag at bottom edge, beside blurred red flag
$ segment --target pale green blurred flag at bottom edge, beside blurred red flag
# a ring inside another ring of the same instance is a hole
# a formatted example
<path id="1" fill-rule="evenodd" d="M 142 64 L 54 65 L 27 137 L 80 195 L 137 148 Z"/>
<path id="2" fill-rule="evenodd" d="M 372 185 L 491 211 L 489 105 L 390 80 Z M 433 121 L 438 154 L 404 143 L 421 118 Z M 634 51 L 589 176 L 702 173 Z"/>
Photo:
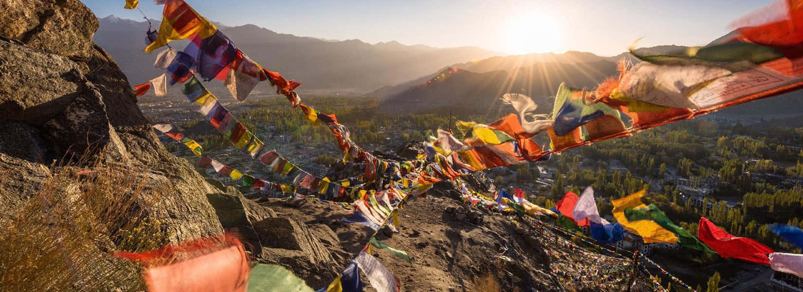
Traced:
<path id="1" fill-rule="evenodd" d="M 291 270 L 279 265 L 258 264 L 251 269 L 248 290 L 267 292 L 314 292 L 307 283 Z"/>

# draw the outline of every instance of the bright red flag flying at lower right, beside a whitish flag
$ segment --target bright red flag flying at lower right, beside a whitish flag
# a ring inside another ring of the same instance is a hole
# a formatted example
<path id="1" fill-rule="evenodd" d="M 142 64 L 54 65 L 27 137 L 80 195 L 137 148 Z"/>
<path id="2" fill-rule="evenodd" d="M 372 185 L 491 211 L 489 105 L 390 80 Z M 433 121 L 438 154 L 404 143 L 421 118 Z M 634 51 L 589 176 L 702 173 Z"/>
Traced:
<path id="1" fill-rule="evenodd" d="M 700 217 L 697 237 L 719 253 L 722 258 L 737 258 L 742 261 L 769 265 L 767 253 L 775 252 L 758 241 L 745 237 L 735 237 L 731 233 L 717 228 L 706 217 Z"/>

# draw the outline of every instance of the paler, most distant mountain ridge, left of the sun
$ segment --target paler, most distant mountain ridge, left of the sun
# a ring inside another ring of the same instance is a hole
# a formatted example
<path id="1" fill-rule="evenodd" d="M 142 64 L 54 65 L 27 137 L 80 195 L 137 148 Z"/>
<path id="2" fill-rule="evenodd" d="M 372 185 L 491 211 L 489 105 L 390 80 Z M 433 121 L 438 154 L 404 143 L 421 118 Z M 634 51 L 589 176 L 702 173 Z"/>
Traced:
<path id="1" fill-rule="evenodd" d="M 158 27 L 157 20 L 149 20 Z M 145 54 L 149 22 L 100 18 L 94 40 L 120 64 L 131 83 L 143 83 L 161 74 L 151 66 L 155 54 Z M 225 26 L 215 23 L 247 55 L 271 71 L 296 79 L 302 90 L 373 91 L 430 74 L 453 63 L 500 55 L 479 47 L 436 48 L 397 42 L 364 43 L 279 34 L 255 25 Z M 184 42 L 170 43 L 181 50 Z"/>

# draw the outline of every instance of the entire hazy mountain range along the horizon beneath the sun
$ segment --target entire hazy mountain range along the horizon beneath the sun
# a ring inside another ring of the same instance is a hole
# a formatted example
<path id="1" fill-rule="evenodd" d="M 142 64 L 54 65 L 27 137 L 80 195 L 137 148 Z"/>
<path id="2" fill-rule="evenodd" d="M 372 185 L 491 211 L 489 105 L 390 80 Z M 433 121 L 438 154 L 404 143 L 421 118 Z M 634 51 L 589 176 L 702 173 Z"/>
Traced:
<path id="1" fill-rule="evenodd" d="M 134 21 L 114 15 L 100 18 L 94 40 L 104 47 L 132 84 L 144 83 L 161 74 L 149 66 L 155 55 L 145 54 L 145 31 L 157 20 Z M 255 25 L 225 26 L 215 22 L 251 59 L 271 71 L 304 86 L 301 91 L 322 94 L 366 93 L 383 99 L 381 107 L 400 112 L 456 111 L 488 116 L 510 108 L 499 101 L 508 92 L 524 92 L 548 112 L 558 85 L 593 88 L 615 75 L 616 63 L 627 59 L 637 63 L 630 52 L 600 56 L 589 52 L 501 55 L 479 47 L 437 48 L 404 45 L 395 41 L 365 43 L 357 39 L 331 40 L 280 34 Z M 181 50 L 186 41 L 171 43 Z M 640 48 L 650 53 L 679 51 L 682 46 Z M 803 107 L 801 92 L 732 107 L 719 114 L 734 116 L 789 116 Z"/>

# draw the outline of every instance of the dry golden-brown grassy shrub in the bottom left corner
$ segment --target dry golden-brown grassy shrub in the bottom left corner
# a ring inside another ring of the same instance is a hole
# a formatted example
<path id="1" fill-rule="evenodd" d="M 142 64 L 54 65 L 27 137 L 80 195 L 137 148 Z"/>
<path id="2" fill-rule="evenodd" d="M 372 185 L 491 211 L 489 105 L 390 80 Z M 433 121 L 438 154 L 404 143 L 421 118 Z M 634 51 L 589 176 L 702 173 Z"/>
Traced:
<path id="1" fill-rule="evenodd" d="M 157 200 L 150 194 L 165 186 L 147 185 L 123 166 L 89 165 L 54 167 L 0 226 L 0 290 L 145 290 L 140 266 L 108 254 L 166 243 L 169 234 L 145 213 Z"/>

